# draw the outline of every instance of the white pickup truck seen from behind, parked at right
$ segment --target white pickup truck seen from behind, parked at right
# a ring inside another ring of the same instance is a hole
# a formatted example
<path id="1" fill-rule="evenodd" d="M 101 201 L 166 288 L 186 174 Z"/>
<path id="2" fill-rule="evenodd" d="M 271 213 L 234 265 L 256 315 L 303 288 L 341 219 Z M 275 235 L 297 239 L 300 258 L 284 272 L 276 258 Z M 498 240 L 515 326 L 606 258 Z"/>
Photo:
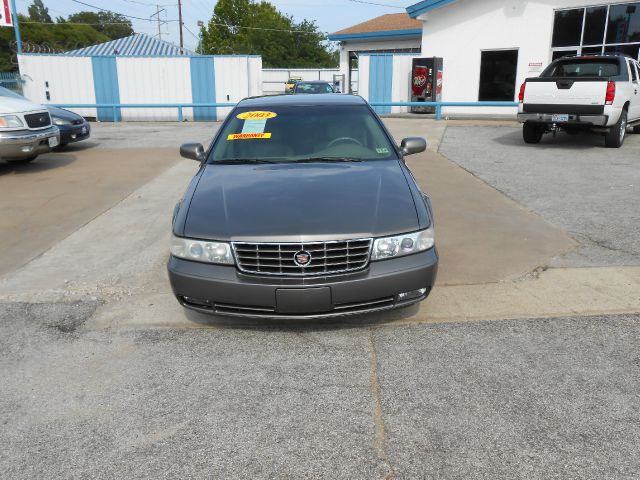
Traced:
<path id="1" fill-rule="evenodd" d="M 639 66 L 620 54 L 562 57 L 520 87 L 518 120 L 526 143 L 545 133 L 590 130 L 619 148 L 627 127 L 640 133 Z"/>

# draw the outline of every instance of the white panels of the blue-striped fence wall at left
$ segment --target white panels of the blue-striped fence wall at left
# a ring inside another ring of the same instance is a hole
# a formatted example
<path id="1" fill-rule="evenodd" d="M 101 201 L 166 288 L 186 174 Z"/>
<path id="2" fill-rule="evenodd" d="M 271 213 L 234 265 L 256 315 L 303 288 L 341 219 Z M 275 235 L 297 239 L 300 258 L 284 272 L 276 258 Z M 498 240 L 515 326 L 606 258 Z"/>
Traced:
<path id="1" fill-rule="evenodd" d="M 262 58 L 247 55 L 203 56 L 211 60 L 213 75 L 204 76 L 211 85 L 192 82 L 189 57 L 87 57 L 69 55 L 26 54 L 19 56 L 20 73 L 25 79 L 24 94 L 31 100 L 47 104 L 95 104 L 97 84 L 94 81 L 92 58 L 115 60 L 113 70 L 117 95 L 123 104 L 193 103 L 194 88 L 210 89 L 218 103 L 237 103 L 245 97 L 262 94 Z M 46 88 L 46 82 L 49 88 Z M 46 92 L 49 91 L 50 99 Z M 205 95 L 206 96 L 206 95 Z M 208 102 L 207 102 L 208 103 Z M 109 121 L 107 109 L 70 108 L 70 110 Z M 193 109 L 184 108 L 187 120 L 193 119 Z M 201 108 L 202 110 L 202 108 Z M 229 108 L 211 110 L 213 117 L 223 119 Z M 177 108 L 122 108 L 122 120 L 171 120 L 178 118 Z M 112 115 L 111 115 L 112 116 Z"/>

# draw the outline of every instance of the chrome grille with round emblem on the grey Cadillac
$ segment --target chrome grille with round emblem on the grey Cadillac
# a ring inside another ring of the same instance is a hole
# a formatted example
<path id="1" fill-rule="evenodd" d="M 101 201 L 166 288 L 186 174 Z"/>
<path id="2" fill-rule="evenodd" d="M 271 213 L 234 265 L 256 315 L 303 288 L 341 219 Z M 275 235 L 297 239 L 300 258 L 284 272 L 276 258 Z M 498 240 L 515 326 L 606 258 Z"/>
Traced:
<path id="1" fill-rule="evenodd" d="M 238 268 L 245 273 L 282 276 L 327 275 L 361 270 L 369 263 L 371 239 L 304 243 L 234 242 Z M 306 265 L 294 257 L 306 252 Z"/>

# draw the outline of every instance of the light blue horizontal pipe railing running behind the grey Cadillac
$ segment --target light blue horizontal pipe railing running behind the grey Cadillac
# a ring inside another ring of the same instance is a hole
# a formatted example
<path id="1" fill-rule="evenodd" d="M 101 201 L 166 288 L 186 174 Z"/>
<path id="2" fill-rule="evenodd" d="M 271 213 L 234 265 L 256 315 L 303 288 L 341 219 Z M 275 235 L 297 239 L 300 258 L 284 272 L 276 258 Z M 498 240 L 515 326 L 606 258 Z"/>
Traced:
<path id="1" fill-rule="evenodd" d="M 56 103 L 60 108 L 111 109 L 110 118 L 120 121 L 121 108 L 176 108 L 178 121 L 184 121 L 185 108 L 235 107 L 235 103 Z M 436 120 L 442 120 L 443 107 L 517 107 L 517 102 L 371 102 L 373 107 L 435 107 Z"/>

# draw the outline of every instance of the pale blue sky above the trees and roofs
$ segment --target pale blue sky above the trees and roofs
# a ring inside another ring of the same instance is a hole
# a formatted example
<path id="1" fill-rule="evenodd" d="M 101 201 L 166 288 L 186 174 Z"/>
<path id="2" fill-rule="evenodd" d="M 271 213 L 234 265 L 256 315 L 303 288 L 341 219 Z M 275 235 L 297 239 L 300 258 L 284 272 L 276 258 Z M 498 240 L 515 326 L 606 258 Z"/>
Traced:
<path id="1" fill-rule="evenodd" d="M 43 0 L 52 18 L 67 17 L 79 11 L 98 11 L 74 2 L 73 0 Z M 174 20 L 161 26 L 162 38 L 174 43 L 179 42 L 178 35 L 178 1 L 177 0 L 81 0 L 96 7 L 111 10 L 125 15 L 150 18 L 156 12 L 156 4 L 165 11 L 161 13 L 163 20 Z M 354 0 L 270 0 L 282 13 L 291 15 L 295 21 L 303 19 L 315 20 L 323 32 L 335 32 L 385 13 L 401 13 L 404 8 L 417 0 L 369 0 L 387 6 L 377 6 Z M 27 13 L 31 0 L 16 0 L 18 12 Z M 211 18 L 216 0 L 183 0 L 182 15 L 185 25 L 184 45 L 195 49 L 198 39 L 198 20 L 205 23 Z M 154 19 L 157 17 L 153 17 Z M 136 32 L 158 34 L 156 21 L 131 19 Z M 187 30 L 188 29 L 188 30 Z M 190 33 L 189 30 L 192 32 Z"/>

